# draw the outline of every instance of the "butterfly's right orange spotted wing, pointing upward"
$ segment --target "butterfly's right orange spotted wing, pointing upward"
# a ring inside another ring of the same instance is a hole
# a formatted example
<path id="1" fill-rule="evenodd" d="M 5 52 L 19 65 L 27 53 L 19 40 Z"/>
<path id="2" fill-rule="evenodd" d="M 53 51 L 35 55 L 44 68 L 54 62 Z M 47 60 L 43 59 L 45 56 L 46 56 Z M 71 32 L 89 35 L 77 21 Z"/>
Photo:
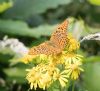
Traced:
<path id="1" fill-rule="evenodd" d="M 50 41 L 54 42 L 56 46 L 61 48 L 62 50 L 66 46 L 67 42 L 67 27 L 68 20 L 65 20 L 63 23 L 58 25 L 56 31 L 51 35 Z"/>

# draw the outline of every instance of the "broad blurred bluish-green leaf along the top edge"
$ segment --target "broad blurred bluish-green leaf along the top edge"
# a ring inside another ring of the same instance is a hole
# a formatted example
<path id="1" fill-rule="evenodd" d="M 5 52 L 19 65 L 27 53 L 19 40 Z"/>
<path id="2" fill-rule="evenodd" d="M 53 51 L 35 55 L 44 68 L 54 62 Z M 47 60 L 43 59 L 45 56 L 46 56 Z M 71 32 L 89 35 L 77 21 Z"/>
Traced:
<path id="1" fill-rule="evenodd" d="M 47 9 L 69 4 L 72 0 L 16 0 L 14 6 L 4 16 L 10 18 L 27 18 L 32 14 L 40 14 Z"/>

